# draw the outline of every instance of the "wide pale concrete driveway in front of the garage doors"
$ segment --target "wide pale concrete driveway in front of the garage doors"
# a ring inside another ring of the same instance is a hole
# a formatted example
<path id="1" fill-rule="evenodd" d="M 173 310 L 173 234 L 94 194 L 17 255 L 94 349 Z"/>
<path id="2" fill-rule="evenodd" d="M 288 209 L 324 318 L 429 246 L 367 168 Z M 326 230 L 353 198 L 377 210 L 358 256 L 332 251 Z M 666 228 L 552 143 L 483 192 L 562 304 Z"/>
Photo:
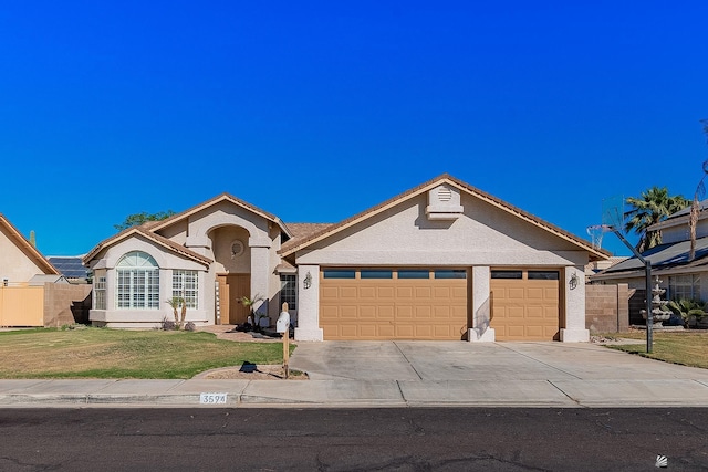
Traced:
<path id="1" fill-rule="evenodd" d="M 706 379 L 676 366 L 593 344 L 461 342 L 299 343 L 290 366 L 311 379 Z"/>

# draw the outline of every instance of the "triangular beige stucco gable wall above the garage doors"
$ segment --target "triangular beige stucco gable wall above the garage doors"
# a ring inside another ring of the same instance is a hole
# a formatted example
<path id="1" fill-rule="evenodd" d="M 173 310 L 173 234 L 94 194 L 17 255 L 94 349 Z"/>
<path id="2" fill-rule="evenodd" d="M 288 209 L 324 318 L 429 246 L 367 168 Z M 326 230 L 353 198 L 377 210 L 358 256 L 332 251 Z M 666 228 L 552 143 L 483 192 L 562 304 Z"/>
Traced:
<path id="1" fill-rule="evenodd" d="M 531 223 L 462 196 L 455 221 L 428 221 L 419 196 L 296 254 L 320 265 L 548 265 L 587 263 L 587 253 Z"/>

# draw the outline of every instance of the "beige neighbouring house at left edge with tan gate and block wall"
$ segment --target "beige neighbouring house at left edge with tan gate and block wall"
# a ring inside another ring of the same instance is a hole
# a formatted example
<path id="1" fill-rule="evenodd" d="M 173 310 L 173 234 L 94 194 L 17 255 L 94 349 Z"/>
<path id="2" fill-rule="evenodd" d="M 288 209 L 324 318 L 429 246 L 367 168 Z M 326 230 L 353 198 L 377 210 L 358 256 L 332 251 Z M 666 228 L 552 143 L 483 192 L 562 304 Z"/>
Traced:
<path id="1" fill-rule="evenodd" d="M 72 324 L 90 293 L 88 285 L 70 285 L 0 214 L 0 326 Z"/>

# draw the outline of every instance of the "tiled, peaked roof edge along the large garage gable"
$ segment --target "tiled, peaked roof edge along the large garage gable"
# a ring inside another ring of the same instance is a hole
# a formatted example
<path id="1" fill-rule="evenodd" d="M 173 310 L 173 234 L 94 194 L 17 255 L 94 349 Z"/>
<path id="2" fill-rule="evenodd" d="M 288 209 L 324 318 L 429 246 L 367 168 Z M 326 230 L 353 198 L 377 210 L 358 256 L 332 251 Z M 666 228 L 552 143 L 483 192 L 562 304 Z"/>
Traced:
<path id="1" fill-rule="evenodd" d="M 466 183 L 466 182 L 464 182 L 461 180 L 458 180 L 458 179 L 451 177 L 448 174 L 444 174 L 444 175 L 441 175 L 441 176 L 439 176 L 439 177 L 437 177 L 437 178 L 435 178 L 433 180 L 428 180 L 427 182 L 424 182 L 424 183 L 419 185 L 418 187 L 415 187 L 415 188 L 413 188 L 413 189 L 410 189 L 408 191 L 405 191 L 405 192 L 403 192 L 403 193 L 400 193 L 400 195 L 398 195 L 398 196 L 396 196 L 396 197 L 394 197 L 394 198 L 392 198 L 389 200 L 384 201 L 383 203 L 379 203 L 379 204 L 377 204 L 377 206 L 375 206 L 373 208 L 369 208 L 368 210 L 365 210 L 365 211 L 363 211 L 363 212 L 361 212 L 358 214 L 355 214 L 354 217 L 348 218 L 348 219 L 346 219 L 346 220 L 344 220 L 344 221 L 342 221 L 340 223 L 332 224 L 330 227 L 323 228 L 320 231 L 317 231 L 317 232 L 315 232 L 315 233 L 313 233 L 313 234 L 311 234 L 309 237 L 305 237 L 305 238 L 302 238 L 302 239 L 290 240 L 290 241 L 285 242 L 282 245 L 282 249 L 281 249 L 280 253 L 283 256 L 293 254 L 296 251 L 305 249 L 306 247 L 309 247 L 311 244 L 314 244 L 317 241 L 322 241 L 325 238 L 329 238 L 329 237 L 331 237 L 333 234 L 336 234 L 340 231 L 343 231 L 343 230 L 345 230 L 345 229 L 347 229 L 347 228 L 350 228 L 350 227 L 352 227 L 352 225 L 354 225 L 356 223 L 360 223 L 361 221 L 364 221 L 364 220 L 366 220 L 368 218 L 372 218 L 375 214 L 378 214 L 382 211 L 385 211 L 388 208 L 391 208 L 391 207 L 393 207 L 395 204 L 398 204 L 404 200 L 407 200 L 409 198 L 413 198 L 413 197 L 416 197 L 416 196 L 418 196 L 420 193 L 424 193 L 424 192 L 426 192 L 426 191 L 428 191 L 428 190 L 430 190 L 430 189 L 433 189 L 433 188 L 435 188 L 435 187 L 437 187 L 437 186 L 439 186 L 441 183 L 448 183 L 448 185 L 451 185 L 454 187 L 457 187 L 458 189 L 460 189 L 462 191 L 466 191 L 467 193 L 469 193 L 469 195 L 471 195 L 471 196 L 473 196 L 473 197 L 476 197 L 476 198 L 478 198 L 480 200 L 483 200 L 489 204 L 492 204 L 492 206 L 494 206 L 494 207 L 497 207 L 497 208 L 499 208 L 499 209 L 501 209 L 501 210 L 503 210 L 503 211 L 506 211 L 508 213 L 511 213 L 511 214 L 513 214 L 513 216 L 516 216 L 516 217 L 518 217 L 518 218 L 520 218 L 520 219 L 522 219 L 522 220 L 535 225 L 535 227 L 539 227 L 539 228 L 541 228 L 541 229 L 543 229 L 545 231 L 549 231 L 549 232 L 555 234 L 556 237 L 559 237 L 559 238 L 561 238 L 561 239 L 563 239 L 565 241 L 569 241 L 569 242 L 571 242 L 573 244 L 576 244 L 576 245 L 581 247 L 583 250 L 589 252 L 591 261 L 593 261 L 593 260 L 604 260 L 604 259 L 610 258 L 610 255 L 611 255 L 611 253 L 605 251 L 605 250 L 593 248 L 593 245 L 592 245 L 592 243 L 590 241 L 586 241 L 586 240 L 581 239 L 581 238 L 579 238 L 579 237 L 576 237 L 574 234 L 571 234 L 568 231 L 564 231 L 564 230 L 560 229 L 559 227 L 549 223 L 548 221 L 544 221 L 544 220 L 542 220 L 542 219 L 540 219 L 538 217 L 534 217 L 533 214 L 531 214 L 531 213 L 529 213 L 527 211 L 523 211 L 523 210 L 521 210 L 521 209 L 519 209 L 519 208 L 517 208 L 517 207 L 514 207 L 514 206 L 512 206 L 510 203 L 507 203 L 503 200 L 500 200 L 500 199 L 498 199 L 496 197 L 492 197 L 491 195 L 486 193 L 486 192 L 483 192 L 483 191 L 470 186 L 469 183 Z"/>

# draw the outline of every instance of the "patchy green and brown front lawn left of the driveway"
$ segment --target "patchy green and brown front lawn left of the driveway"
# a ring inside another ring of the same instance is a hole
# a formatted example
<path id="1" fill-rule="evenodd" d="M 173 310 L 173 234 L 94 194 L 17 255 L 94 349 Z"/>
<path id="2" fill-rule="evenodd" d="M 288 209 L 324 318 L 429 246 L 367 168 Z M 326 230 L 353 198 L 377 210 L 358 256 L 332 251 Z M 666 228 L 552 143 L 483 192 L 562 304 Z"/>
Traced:
<path id="1" fill-rule="evenodd" d="M 185 379 L 243 363 L 281 364 L 282 353 L 280 343 L 204 332 L 24 329 L 0 333 L 0 378 Z"/>

